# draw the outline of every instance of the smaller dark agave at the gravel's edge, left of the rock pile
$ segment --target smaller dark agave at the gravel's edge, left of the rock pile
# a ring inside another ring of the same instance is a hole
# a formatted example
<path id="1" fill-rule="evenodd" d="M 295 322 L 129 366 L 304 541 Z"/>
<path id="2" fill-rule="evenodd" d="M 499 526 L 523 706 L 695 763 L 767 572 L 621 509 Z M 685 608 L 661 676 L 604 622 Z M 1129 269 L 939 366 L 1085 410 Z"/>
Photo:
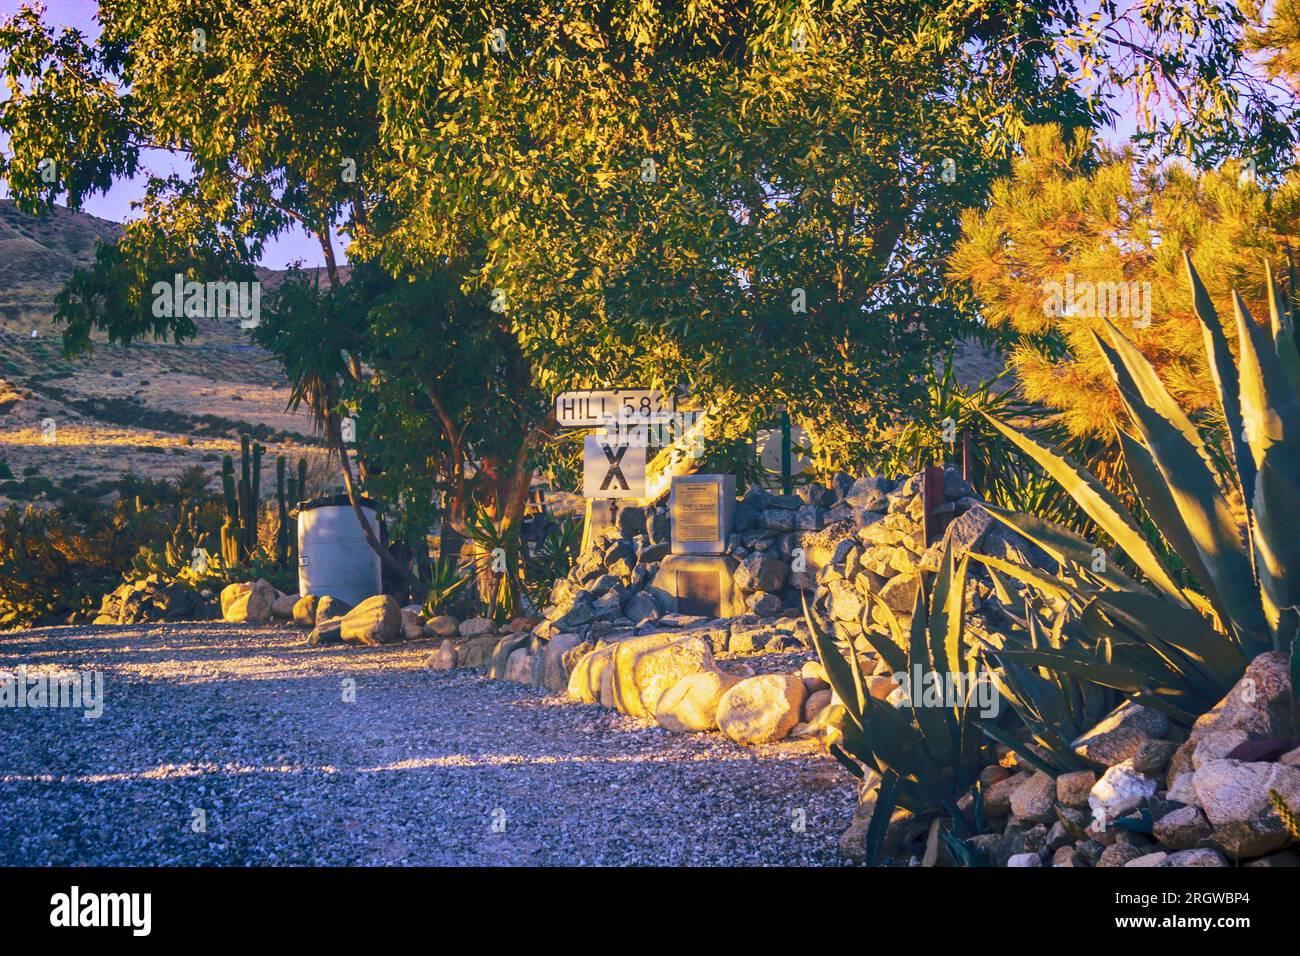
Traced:
<path id="1" fill-rule="evenodd" d="M 867 862 L 879 856 L 896 806 L 918 816 L 941 812 L 952 817 L 958 836 L 972 832 L 974 818 L 957 803 L 978 779 L 989 743 L 972 706 L 976 680 L 987 680 L 987 675 L 980 674 L 979 656 L 970 653 L 963 640 L 966 568 L 965 558 L 954 566 L 952 549 L 945 550 L 933 597 L 927 601 L 926 587 L 918 589 L 905 646 L 868 632 L 885 663 L 911 675 L 911 698 L 898 708 L 870 695 L 857 653 L 852 646 L 841 652 L 805 601 L 803 614 L 827 680 L 844 702 L 841 736 L 831 744 L 831 753 L 859 779 L 866 775 L 863 767 L 881 778 L 867 826 Z M 926 675 L 956 685 L 958 698 L 927 701 L 916 683 Z"/>

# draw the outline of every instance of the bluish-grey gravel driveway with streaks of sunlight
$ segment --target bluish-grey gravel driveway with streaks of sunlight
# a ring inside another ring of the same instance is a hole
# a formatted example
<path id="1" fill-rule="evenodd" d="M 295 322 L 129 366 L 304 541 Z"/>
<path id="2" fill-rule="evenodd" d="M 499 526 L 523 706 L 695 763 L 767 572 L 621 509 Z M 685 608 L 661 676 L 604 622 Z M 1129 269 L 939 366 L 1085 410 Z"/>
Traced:
<path id="1" fill-rule="evenodd" d="M 811 745 L 668 734 L 429 670 L 433 646 L 220 623 L 0 635 L 3 672 L 104 675 L 99 718 L 0 710 L 0 864 L 841 862 L 852 778 Z"/>

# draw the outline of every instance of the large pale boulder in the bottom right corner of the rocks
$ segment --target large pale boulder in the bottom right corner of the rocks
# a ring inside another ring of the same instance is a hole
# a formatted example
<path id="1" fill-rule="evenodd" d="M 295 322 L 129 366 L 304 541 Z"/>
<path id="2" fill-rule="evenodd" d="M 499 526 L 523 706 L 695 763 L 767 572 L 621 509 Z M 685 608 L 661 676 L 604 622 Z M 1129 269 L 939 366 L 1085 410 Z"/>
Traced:
<path id="1" fill-rule="evenodd" d="M 1196 771 L 1197 803 L 1214 827 L 1213 842 L 1236 860 L 1262 856 L 1290 842 L 1269 791 L 1300 808 L 1300 769 L 1284 763 L 1217 760 Z"/>

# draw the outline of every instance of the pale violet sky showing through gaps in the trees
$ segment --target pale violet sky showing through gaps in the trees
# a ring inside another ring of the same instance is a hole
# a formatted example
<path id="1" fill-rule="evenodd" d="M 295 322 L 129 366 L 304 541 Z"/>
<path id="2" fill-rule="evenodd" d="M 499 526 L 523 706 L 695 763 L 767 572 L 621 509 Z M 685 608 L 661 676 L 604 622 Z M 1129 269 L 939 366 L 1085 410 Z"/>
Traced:
<path id="1" fill-rule="evenodd" d="M 8 20 L 22 7 L 22 0 L 0 0 L 0 21 Z M 1087 9 L 1088 4 L 1084 4 Z M 99 23 L 95 21 L 95 12 L 99 4 L 95 0 L 46 0 L 47 23 L 56 27 L 75 27 L 86 36 L 99 35 Z M 1119 120 L 1119 126 L 1114 130 L 1104 130 L 1102 139 L 1119 144 L 1127 142 L 1134 131 L 1132 114 L 1124 114 Z M 172 172 L 187 172 L 188 164 L 172 153 L 151 150 L 146 153 L 143 165 L 157 176 L 168 176 Z M 98 194 L 88 198 L 83 204 L 83 211 L 100 219 L 124 222 L 134 219 L 131 203 L 138 202 L 144 195 L 147 174 L 138 174 L 134 179 L 118 181 L 107 194 Z M 5 196 L 6 190 L 0 183 L 0 196 Z M 338 260 L 347 261 L 344 254 L 346 239 L 335 242 L 335 255 Z M 324 256 L 315 239 L 300 229 L 282 234 L 278 239 L 268 243 L 261 258 L 261 265 L 269 269 L 283 269 L 290 263 L 300 261 L 306 267 L 324 265 Z"/>

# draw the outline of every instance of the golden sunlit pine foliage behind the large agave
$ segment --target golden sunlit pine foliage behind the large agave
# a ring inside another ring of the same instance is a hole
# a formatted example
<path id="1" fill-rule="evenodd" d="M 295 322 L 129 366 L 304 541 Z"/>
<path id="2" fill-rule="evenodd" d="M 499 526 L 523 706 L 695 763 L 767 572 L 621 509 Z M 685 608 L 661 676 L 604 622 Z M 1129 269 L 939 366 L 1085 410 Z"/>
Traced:
<path id="1" fill-rule="evenodd" d="M 1114 424 L 1127 423 L 1092 333 L 1109 319 L 1184 407 L 1213 408 L 1183 250 L 1221 317 L 1231 321 L 1235 289 L 1266 319 L 1261 260 L 1284 277 L 1300 252 L 1300 177 L 1265 189 L 1248 164 L 1157 169 L 1087 133 L 1065 140 L 1041 126 L 962 229 L 950 274 L 970 284 L 985 323 L 1014 341 L 1010 362 L 1026 395 L 1061 410 L 1072 434 L 1112 438 Z M 1235 341 L 1234 329 L 1226 333 Z"/>

